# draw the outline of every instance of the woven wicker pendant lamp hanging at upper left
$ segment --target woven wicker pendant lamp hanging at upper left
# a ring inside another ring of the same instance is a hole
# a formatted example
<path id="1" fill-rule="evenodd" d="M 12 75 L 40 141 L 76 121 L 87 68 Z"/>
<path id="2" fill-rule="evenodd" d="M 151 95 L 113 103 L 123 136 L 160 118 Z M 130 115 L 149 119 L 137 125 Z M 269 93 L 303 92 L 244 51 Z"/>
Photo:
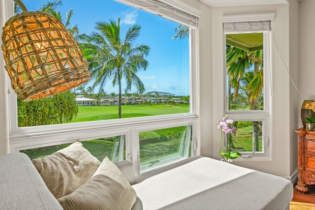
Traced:
<path id="1" fill-rule="evenodd" d="M 80 86 L 91 79 L 82 51 L 61 21 L 43 12 L 23 10 L 2 32 L 5 70 L 22 101 L 31 101 Z"/>

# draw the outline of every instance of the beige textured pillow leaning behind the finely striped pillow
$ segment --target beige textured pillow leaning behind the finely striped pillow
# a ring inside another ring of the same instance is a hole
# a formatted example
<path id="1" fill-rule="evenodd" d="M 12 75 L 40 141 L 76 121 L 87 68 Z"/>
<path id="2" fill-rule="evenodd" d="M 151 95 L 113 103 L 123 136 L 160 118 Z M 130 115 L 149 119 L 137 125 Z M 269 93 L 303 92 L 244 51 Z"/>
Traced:
<path id="1" fill-rule="evenodd" d="M 33 159 L 33 164 L 58 199 L 90 180 L 100 161 L 80 142 L 75 142 L 51 155 Z"/>

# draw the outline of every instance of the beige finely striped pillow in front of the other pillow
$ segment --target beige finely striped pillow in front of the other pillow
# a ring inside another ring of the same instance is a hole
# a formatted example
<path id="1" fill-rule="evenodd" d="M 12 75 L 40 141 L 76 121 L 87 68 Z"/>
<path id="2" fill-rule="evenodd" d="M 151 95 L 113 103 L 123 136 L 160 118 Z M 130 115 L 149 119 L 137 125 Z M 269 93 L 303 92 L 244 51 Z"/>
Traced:
<path id="1" fill-rule="evenodd" d="M 136 199 L 124 174 L 105 157 L 91 180 L 58 201 L 64 210 L 130 210 Z"/>

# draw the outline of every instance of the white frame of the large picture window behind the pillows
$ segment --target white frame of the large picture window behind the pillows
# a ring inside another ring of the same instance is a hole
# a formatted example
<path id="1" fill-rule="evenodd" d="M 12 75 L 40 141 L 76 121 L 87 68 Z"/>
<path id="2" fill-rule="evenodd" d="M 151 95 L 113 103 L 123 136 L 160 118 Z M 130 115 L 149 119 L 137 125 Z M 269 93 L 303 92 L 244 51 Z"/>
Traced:
<path id="1" fill-rule="evenodd" d="M 11 0 L 4 0 L 11 2 Z M 158 1 L 158 0 L 155 0 Z M 162 0 L 164 3 L 172 2 L 172 6 L 178 9 L 185 9 L 185 12 L 200 16 L 197 9 L 192 8 L 177 0 Z M 174 4 L 174 2 L 176 2 Z M 13 3 L 13 2 L 11 2 Z M 12 5 L 5 4 L 1 10 L 7 10 L 9 15 L 13 16 Z M 17 127 L 17 98 L 8 80 L 8 106 L 9 106 L 9 147 L 10 152 L 26 150 L 38 147 L 46 147 L 65 143 L 85 141 L 96 138 L 105 138 L 110 136 L 125 135 L 126 137 L 126 159 L 131 161 L 138 171 L 139 166 L 139 147 L 138 130 L 145 127 L 152 129 L 182 126 L 184 124 L 193 124 L 198 120 L 196 115 L 197 100 L 197 74 L 198 74 L 198 49 L 197 49 L 197 26 L 189 27 L 189 73 L 190 73 L 190 112 L 173 115 L 160 115 L 152 117 L 139 117 L 117 120 L 99 120 L 89 122 L 76 122 L 55 125 L 43 125 L 32 127 Z M 2 55 L 0 55 L 2 58 Z M 2 58 L 3 59 L 3 58 Z M 196 134 L 192 133 L 192 139 L 196 141 Z M 194 144 L 195 145 L 195 144 Z M 193 149 L 195 152 L 196 148 Z M 192 153 L 193 155 L 194 153 Z"/>

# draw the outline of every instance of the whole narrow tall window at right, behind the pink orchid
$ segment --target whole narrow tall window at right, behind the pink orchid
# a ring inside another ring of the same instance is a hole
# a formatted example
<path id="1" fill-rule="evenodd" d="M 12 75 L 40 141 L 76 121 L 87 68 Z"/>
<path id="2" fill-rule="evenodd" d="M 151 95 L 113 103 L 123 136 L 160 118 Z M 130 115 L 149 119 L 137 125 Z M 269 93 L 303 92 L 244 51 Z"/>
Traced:
<path id="1" fill-rule="evenodd" d="M 269 155 L 269 31 L 273 18 L 274 14 L 223 17 L 226 114 L 237 128 L 228 142 L 231 150 L 244 157 Z"/>

